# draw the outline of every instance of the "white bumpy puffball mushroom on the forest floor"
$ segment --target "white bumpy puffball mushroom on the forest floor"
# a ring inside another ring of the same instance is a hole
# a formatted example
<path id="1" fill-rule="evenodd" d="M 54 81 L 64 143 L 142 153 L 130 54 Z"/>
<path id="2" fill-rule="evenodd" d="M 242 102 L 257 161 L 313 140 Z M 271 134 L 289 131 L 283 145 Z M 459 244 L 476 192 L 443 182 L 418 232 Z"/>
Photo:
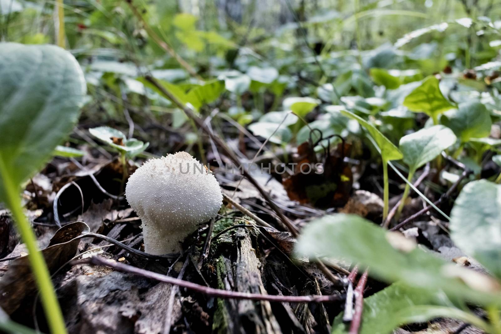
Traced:
<path id="1" fill-rule="evenodd" d="M 145 162 L 129 177 L 125 196 L 141 218 L 145 252 L 155 255 L 180 252 L 222 204 L 214 175 L 186 152 Z"/>

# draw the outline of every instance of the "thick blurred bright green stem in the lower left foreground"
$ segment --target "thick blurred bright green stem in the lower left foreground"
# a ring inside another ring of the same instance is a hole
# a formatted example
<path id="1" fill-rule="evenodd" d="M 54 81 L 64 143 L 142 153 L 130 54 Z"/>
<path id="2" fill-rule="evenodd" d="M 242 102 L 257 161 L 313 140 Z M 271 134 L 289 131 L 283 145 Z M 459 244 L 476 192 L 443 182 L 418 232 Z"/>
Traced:
<path id="1" fill-rule="evenodd" d="M 16 226 L 21 234 L 21 239 L 28 249 L 28 259 L 33 271 L 33 276 L 37 282 L 40 295 L 42 297 L 42 305 L 44 306 L 45 315 L 49 328 L 54 334 L 65 334 L 66 325 L 63 318 L 63 313 L 59 307 L 59 302 L 56 297 L 54 285 L 51 281 L 49 269 L 45 263 L 45 259 L 40 251 L 37 238 L 30 225 L 28 219 L 23 212 L 21 196 L 19 195 L 19 186 L 14 184 L 9 177 L 7 167 L 0 157 L 0 174 L 3 176 L 5 204 L 11 210 L 12 217 L 16 221 Z"/>

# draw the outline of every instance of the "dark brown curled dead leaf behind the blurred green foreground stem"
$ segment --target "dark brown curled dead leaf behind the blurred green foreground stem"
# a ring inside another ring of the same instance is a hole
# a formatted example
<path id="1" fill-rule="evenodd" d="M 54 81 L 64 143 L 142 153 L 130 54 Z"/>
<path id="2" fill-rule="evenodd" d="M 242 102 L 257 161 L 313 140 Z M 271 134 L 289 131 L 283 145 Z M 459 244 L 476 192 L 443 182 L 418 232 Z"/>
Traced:
<path id="1" fill-rule="evenodd" d="M 70 260 L 77 252 L 79 239 L 76 236 L 89 232 L 86 223 L 78 221 L 61 227 L 52 237 L 49 246 L 42 250 L 51 272 Z M 37 290 L 27 256 L 12 260 L 9 269 L 0 280 L 0 307 L 12 314 L 22 304 L 25 297 Z"/>

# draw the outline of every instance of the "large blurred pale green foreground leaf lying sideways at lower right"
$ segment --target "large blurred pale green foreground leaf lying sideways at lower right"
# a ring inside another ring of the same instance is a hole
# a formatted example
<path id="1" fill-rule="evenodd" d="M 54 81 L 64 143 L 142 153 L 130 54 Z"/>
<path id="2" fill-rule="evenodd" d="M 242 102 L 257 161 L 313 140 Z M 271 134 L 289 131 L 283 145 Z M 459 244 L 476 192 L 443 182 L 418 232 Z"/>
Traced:
<path id="1" fill-rule="evenodd" d="M 326 215 L 311 221 L 298 239 L 299 256 L 326 256 L 370 266 L 370 274 L 413 288 L 443 290 L 449 298 L 501 305 L 501 287 L 487 275 L 448 263 L 396 232 L 360 216 Z"/>

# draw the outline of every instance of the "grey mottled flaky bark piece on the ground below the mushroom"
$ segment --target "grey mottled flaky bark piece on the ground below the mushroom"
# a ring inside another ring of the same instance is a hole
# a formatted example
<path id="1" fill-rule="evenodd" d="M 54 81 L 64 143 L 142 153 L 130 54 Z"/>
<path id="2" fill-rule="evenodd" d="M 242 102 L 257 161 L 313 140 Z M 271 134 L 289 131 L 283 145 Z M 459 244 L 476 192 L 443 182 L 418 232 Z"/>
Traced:
<path id="1" fill-rule="evenodd" d="M 162 332 L 172 285 L 110 268 L 76 265 L 66 274 L 59 292 L 71 333 Z M 171 324 L 181 317 L 174 296 Z"/>

